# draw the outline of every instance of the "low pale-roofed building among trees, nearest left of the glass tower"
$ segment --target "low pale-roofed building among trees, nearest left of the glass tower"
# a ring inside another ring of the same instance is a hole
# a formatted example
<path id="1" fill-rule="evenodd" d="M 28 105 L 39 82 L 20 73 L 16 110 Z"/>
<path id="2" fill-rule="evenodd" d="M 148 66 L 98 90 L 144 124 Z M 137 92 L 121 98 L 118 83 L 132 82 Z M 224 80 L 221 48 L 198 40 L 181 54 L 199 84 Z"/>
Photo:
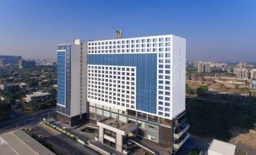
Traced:
<path id="1" fill-rule="evenodd" d="M 42 93 L 36 92 L 33 94 L 26 95 L 25 101 L 26 102 L 44 102 L 45 100 L 49 99 L 50 93 Z"/>

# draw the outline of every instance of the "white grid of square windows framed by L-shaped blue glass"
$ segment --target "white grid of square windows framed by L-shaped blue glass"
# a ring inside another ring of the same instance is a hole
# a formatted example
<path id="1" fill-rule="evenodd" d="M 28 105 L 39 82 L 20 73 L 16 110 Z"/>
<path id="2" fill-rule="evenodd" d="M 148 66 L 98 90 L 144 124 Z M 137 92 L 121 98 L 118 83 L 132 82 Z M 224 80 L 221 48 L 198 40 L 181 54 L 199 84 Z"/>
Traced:
<path id="1" fill-rule="evenodd" d="M 136 108 L 136 67 L 88 65 L 88 101 L 113 108 Z"/>

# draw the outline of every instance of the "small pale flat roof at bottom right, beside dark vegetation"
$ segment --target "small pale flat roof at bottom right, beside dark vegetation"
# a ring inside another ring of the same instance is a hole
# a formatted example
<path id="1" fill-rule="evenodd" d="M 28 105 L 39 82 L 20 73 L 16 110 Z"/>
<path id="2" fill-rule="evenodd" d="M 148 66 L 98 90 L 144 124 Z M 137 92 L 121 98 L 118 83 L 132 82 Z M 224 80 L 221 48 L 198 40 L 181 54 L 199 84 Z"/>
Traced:
<path id="1" fill-rule="evenodd" d="M 208 150 L 222 155 L 234 155 L 236 152 L 236 145 L 213 139 Z"/>

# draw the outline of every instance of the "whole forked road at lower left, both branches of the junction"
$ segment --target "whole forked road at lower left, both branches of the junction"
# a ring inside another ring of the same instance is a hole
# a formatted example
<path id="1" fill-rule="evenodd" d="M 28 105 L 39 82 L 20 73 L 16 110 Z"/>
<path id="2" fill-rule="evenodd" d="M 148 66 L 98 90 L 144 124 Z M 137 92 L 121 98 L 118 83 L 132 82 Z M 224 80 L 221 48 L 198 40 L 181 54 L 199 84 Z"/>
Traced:
<path id="1" fill-rule="evenodd" d="M 51 118 L 56 114 L 56 108 L 48 108 L 34 114 L 18 114 L 13 112 L 12 120 L 0 123 L 0 135 L 6 132 L 11 132 L 18 127 L 32 127 L 38 130 L 42 135 L 48 138 L 48 141 L 53 145 L 54 149 L 58 150 L 63 155 L 98 155 L 99 153 L 67 138 L 65 135 L 42 125 L 40 122 L 43 118 Z"/>

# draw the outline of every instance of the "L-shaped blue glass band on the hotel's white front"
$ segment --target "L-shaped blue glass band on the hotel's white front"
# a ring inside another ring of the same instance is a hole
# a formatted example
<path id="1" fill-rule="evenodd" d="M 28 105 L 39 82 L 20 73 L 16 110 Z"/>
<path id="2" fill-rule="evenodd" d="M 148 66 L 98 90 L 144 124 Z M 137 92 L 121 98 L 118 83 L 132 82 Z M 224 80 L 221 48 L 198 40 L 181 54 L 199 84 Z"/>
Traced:
<path id="1" fill-rule="evenodd" d="M 136 109 L 156 114 L 157 55 L 89 54 L 88 65 L 119 65 L 136 67 Z"/>

